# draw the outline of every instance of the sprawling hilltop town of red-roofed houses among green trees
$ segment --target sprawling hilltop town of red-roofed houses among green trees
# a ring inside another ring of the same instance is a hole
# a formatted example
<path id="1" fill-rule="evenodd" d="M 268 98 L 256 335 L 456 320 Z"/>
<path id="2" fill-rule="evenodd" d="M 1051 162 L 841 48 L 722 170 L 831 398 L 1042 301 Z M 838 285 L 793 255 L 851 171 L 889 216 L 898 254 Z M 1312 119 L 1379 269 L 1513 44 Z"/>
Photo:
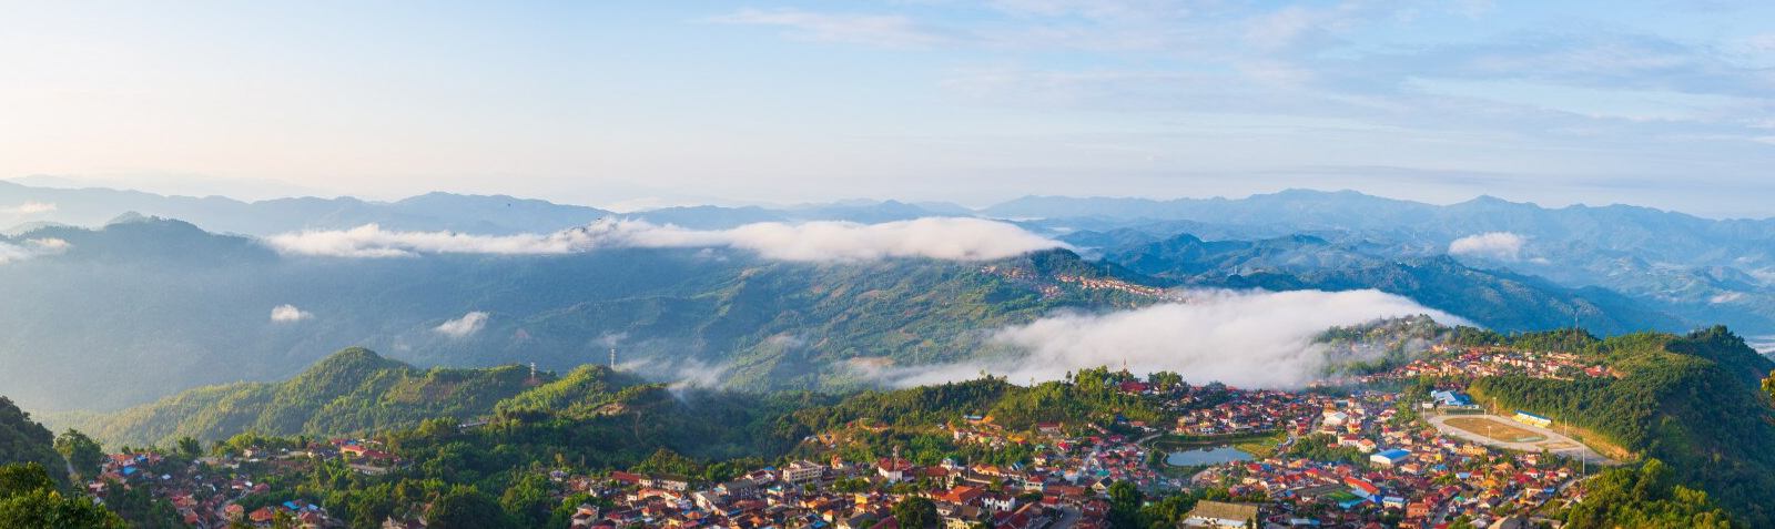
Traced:
<path id="1" fill-rule="evenodd" d="M 857 417 L 804 437 L 779 465 L 740 469 L 719 481 L 644 469 L 543 465 L 531 472 L 548 483 L 552 502 L 570 502 L 564 527 L 898 527 L 896 508 L 928 502 L 935 520 L 953 529 L 1090 529 L 1115 527 L 1116 517 L 1127 517 L 1129 495 L 1138 501 L 1134 509 L 1187 506 L 1170 513 L 1170 522 L 1182 525 L 1560 525 L 1557 515 L 1583 502 L 1585 479 L 1608 460 L 1546 430 L 1555 424 L 1544 415 L 1486 415 L 1464 382 L 1500 373 L 1608 375 L 1574 355 L 1443 344 L 1424 359 L 1361 376 L 1361 385 L 1301 391 L 1189 385 L 1168 373 L 1099 369 L 1067 387 L 1092 387 L 1104 399 L 1157 410 L 1164 421 L 1095 414 L 1014 428 L 983 412 L 900 426 Z M 1420 376 L 1440 382 L 1402 383 Z M 472 421 L 454 428 L 492 426 Z M 1487 437 L 1500 435 L 1498 428 L 1539 438 Z M 1019 456 L 969 462 L 872 446 L 884 435 L 937 437 L 955 447 Z M 1548 449 L 1553 442 L 1564 446 Z M 190 527 L 351 527 L 364 520 L 337 518 L 318 504 L 323 499 L 291 497 L 275 486 L 327 470 L 398 479 L 428 458 L 385 449 L 383 438 L 236 438 L 202 454 L 117 453 L 87 488 L 101 501 L 153 490 Z M 872 451 L 879 456 L 843 456 Z M 380 527 L 428 527 L 428 508 L 426 499 L 403 504 Z"/>

